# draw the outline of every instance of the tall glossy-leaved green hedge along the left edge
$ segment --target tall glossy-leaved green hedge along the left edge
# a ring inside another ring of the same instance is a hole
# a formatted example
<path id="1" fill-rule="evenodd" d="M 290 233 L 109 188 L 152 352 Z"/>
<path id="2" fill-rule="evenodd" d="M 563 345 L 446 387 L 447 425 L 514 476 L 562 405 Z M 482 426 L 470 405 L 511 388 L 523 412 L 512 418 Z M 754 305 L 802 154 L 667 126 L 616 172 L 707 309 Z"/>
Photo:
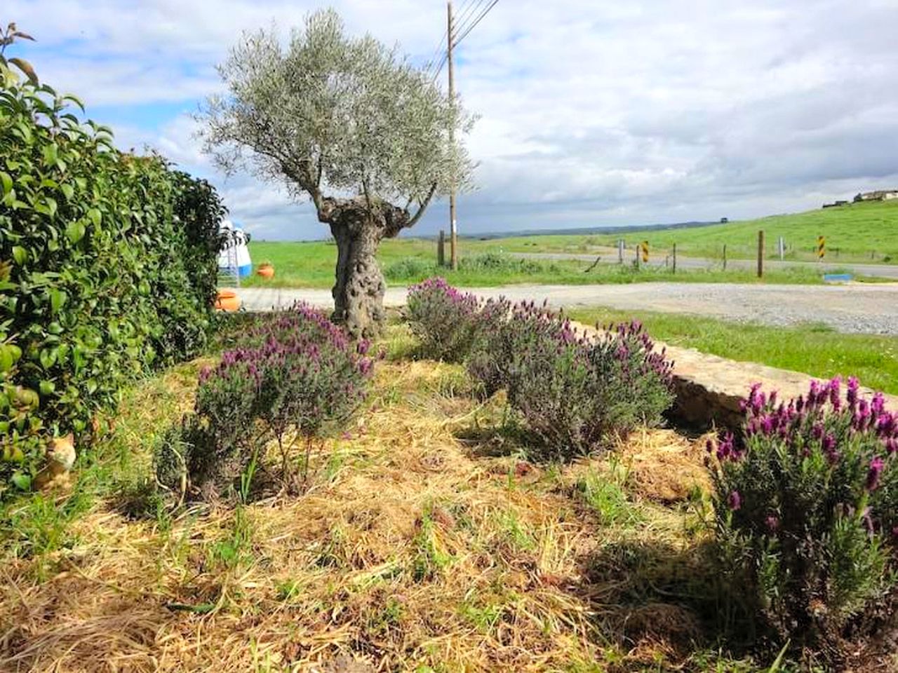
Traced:
<path id="1" fill-rule="evenodd" d="M 2 495 L 49 437 L 83 448 L 125 382 L 203 348 L 225 209 L 161 157 L 115 150 L 74 97 L 0 79 Z"/>

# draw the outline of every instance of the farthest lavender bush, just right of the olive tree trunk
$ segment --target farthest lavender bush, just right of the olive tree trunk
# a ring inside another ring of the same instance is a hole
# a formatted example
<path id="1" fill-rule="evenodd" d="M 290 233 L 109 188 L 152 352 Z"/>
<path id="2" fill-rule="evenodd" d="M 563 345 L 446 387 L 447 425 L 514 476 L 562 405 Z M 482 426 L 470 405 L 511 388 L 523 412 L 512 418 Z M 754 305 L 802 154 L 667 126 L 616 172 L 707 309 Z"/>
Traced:
<path id="1" fill-rule="evenodd" d="M 428 357 L 460 363 L 475 336 L 477 297 L 460 293 L 443 278 L 428 278 L 409 287 L 407 314 L 411 331 Z"/>

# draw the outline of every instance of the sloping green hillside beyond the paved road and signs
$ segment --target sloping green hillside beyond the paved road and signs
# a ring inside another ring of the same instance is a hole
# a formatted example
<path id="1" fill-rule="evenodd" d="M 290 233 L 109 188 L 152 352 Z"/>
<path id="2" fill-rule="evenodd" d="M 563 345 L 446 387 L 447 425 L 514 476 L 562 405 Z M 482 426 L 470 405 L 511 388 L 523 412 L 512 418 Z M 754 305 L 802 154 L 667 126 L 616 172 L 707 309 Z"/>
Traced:
<path id="1" fill-rule="evenodd" d="M 768 258 L 778 256 L 777 240 L 786 240 L 786 259 L 813 260 L 817 236 L 826 237 L 827 262 L 898 263 L 898 200 L 819 208 L 806 213 L 770 215 L 758 220 L 712 224 L 688 229 L 622 235 L 628 249 L 648 240 L 654 254 L 666 254 L 674 243 L 678 254 L 720 258 L 726 244 L 728 258 L 754 258 L 758 231 L 766 238 Z M 479 248 L 508 252 L 593 252 L 614 246 L 617 234 L 522 236 L 476 241 Z M 463 243 L 468 245 L 467 241 Z"/>

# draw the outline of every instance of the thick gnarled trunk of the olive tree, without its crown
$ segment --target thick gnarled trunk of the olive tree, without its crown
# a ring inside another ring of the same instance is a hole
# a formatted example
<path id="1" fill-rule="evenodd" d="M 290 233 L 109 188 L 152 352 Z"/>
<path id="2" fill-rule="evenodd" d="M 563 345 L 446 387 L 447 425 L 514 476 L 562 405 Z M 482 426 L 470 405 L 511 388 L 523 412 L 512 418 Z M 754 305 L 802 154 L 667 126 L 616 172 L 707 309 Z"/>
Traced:
<path id="1" fill-rule="evenodd" d="M 385 319 L 386 291 L 375 258 L 377 247 L 409 226 L 409 213 L 383 201 L 369 205 L 362 197 L 327 197 L 321 201 L 318 219 L 330 225 L 337 242 L 331 319 L 346 326 L 352 337 L 375 337 Z"/>

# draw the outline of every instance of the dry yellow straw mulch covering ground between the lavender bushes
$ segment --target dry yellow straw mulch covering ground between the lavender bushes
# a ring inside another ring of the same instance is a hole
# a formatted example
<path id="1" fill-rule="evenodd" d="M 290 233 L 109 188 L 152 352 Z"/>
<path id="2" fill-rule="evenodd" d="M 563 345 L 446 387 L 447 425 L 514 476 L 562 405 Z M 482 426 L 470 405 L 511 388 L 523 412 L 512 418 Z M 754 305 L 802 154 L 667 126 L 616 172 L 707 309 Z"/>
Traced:
<path id="1" fill-rule="evenodd" d="M 383 363 L 362 423 L 321 447 L 301 497 L 174 520 L 99 505 L 70 531 L 75 546 L 6 562 L 0 669 L 536 671 L 682 656 L 696 617 L 630 601 L 628 573 L 691 572 L 682 513 L 649 500 L 700 481 L 696 449 L 666 431 L 632 437 L 621 456 L 643 522 L 603 527 L 571 488 L 602 460 L 484 457 L 459 436 L 493 410 L 464 380 Z"/>

